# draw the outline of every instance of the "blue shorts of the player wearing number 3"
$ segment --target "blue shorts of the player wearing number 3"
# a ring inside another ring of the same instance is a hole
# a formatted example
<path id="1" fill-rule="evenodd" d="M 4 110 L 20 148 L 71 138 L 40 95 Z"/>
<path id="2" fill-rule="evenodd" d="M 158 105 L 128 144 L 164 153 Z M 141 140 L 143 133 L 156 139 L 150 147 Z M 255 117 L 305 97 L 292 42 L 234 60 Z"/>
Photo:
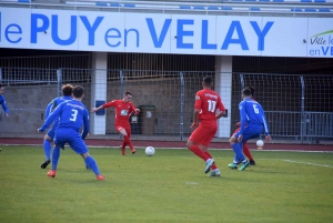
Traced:
<path id="1" fill-rule="evenodd" d="M 63 149 L 65 143 L 68 143 L 78 154 L 84 154 L 89 152 L 84 141 L 77 130 L 68 128 L 57 129 L 54 144 L 58 148 Z"/>

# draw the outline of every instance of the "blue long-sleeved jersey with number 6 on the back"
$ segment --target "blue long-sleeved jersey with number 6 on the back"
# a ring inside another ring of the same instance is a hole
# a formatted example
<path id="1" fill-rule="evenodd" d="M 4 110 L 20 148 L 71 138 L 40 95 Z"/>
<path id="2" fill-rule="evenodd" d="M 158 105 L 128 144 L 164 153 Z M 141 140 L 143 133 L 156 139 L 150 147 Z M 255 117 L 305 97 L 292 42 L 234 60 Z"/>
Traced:
<path id="1" fill-rule="evenodd" d="M 244 126 L 246 124 L 248 128 L 251 128 L 251 125 L 263 125 L 265 134 L 269 134 L 269 125 L 266 122 L 264 110 L 262 109 L 260 103 L 249 98 L 243 100 L 240 103 L 239 108 L 241 113 L 241 133 L 243 133 Z"/>

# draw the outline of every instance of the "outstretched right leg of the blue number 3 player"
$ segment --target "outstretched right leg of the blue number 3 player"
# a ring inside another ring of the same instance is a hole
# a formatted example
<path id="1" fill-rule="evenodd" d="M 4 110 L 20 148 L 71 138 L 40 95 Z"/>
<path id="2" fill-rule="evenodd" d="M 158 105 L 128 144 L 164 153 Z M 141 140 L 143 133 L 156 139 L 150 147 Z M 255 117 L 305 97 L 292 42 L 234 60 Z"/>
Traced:
<path id="1" fill-rule="evenodd" d="M 74 152 L 83 158 L 85 165 L 92 170 L 99 181 L 105 180 L 104 176 L 101 175 L 95 160 L 89 154 L 88 148 L 79 134 L 72 135 L 69 144 Z"/>

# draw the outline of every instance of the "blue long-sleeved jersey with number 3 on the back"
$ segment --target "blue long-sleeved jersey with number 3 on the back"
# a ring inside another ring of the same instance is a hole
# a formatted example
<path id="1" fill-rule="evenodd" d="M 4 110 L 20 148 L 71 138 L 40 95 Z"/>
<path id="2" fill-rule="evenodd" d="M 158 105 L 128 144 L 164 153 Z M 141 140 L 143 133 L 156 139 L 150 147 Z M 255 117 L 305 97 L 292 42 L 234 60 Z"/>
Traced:
<path id="1" fill-rule="evenodd" d="M 89 132 L 89 112 L 80 101 L 69 100 L 59 104 L 40 130 L 46 130 L 58 115 L 58 129 L 67 128 L 80 131 L 82 124 L 84 124 L 82 139 L 85 138 Z"/>

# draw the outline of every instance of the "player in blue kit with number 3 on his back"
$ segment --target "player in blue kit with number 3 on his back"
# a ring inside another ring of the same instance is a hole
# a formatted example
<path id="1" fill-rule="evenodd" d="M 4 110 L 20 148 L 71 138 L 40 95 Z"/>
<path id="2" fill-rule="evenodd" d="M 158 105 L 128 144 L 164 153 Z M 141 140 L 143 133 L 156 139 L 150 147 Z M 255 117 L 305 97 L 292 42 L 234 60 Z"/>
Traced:
<path id="1" fill-rule="evenodd" d="M 99 168 L 94 159 L 89 154 L 88 148 L 84 143 L 84 138 L 89 133 L 89 112 L 81 102 L 83 88 L 77 85 L 73 88 L 71 101 L 64 101 L 57 107 L 52 114 L 46 120 L 44 124 L 38 130 L 43 132 L 56 118 L 59 116 L 59 124 L 56 130 L 54 149 L 52 153 L 52 170 L 48 172 L 48 176 L 56 178 L 58 161 L 60 156 L 60 148 L 64 148 L 68 143 L 74 152 L 80 154 L 85 162 L 85 165 L 91 169 L 99 181 L 105 180 L 100 174 Z M 84 124 L 83 132 L 80 134 L 80 129 Z"/>

